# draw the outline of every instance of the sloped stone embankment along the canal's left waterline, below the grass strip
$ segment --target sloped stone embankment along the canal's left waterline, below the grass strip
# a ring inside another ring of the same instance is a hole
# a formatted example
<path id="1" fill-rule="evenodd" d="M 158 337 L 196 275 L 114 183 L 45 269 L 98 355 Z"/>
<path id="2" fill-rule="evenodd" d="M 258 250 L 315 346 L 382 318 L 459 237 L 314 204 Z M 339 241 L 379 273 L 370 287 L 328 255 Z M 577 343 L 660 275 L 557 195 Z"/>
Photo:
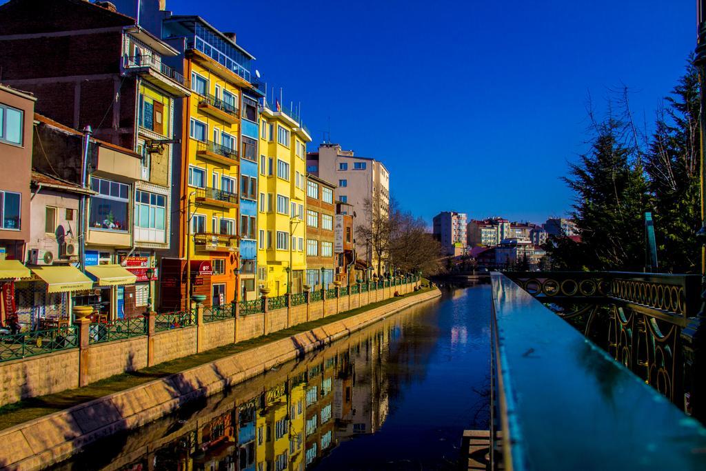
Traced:
<path id="1" fill-rule="evenodd" d="M 218 393 L 409 306 L 440 296 L 441 292 L 435 289 L 403 298 L 0 431 L 0 441 L 5 444 L 0 448 L 0 467 L 30 470 L 59 463 L 98 439 L 141 427 L 190 400 Z"/>

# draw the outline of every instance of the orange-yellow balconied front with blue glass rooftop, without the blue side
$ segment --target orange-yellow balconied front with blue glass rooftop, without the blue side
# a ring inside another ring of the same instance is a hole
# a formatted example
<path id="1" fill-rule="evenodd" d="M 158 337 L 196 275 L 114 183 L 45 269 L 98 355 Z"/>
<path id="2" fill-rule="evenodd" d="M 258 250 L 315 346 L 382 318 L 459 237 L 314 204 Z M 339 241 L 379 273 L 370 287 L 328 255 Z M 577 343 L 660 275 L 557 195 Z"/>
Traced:
<path id="1" fill-rule="evenodd" d="M 256 108 L 246 106 L 242 92 L 256 88 L 249 69 L 254 57 L 235 35 L 198 16 L 172 16 L 164 29 L 169 37 L 184 38 L 184 76 L 191 86 L 182 112 L 181 262 L 172 268 L 178 274 L 171 274 L 184 287 L 171 295 L 184 299 L 190 288 L 188 295 L 205 295 L 207 306 L 227 304 L 239 292 L 241 112 Z"/>

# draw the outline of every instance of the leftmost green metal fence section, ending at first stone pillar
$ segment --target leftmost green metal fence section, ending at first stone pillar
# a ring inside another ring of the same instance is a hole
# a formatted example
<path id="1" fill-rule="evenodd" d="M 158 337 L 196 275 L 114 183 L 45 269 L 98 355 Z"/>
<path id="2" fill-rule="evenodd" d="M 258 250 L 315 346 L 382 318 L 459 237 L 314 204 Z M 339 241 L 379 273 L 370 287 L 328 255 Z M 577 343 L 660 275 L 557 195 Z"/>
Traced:
<path id="1" fill-rule="evenodd" d="M 0 337 L 0 362 L 75 347 L 78 347 L 78 327 L 76 326 L 2 335 Z"/>

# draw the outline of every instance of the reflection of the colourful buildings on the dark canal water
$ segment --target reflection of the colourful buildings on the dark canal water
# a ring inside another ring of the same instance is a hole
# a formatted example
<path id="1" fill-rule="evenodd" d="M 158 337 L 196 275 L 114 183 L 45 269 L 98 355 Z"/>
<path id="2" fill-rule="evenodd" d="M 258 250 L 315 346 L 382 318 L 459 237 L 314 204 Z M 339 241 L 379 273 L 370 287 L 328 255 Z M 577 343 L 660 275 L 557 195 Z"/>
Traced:
<path id="1" fill-rule="evenodd" d="M 383 357 L 391 332 L 395 338 L 392 324 L 282 371 L 265 392 L 238 394 L 237 407 L 201 410 L 174 426 L 181 435 L 164 435 L 126 469 L 304 471 L 316 465 L 340 441 L 371 434 L 385 421 Z"/>

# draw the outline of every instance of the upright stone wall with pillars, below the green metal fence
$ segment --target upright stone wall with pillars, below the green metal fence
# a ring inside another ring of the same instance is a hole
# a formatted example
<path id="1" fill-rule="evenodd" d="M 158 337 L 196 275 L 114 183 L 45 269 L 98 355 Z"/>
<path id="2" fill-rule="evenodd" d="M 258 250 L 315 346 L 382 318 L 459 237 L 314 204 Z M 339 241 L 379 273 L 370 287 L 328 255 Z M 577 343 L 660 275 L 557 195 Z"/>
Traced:
<path id="1" fill-rule="evenodd" d="M 109 376 L 137 371 L 191 354 L 260 337 L 306 321 L 333 316 L 358 306 L 406 294 L 419 286 L 418 281 L 378 287 L 358 292 L 288 306 L 265 312 L 235 316 L 221 321 L 204 322 L 203 309 L 196 315 L 196 326 L 155 331 L 154 314 L 148 319 L 146 335 L 111 342 L 90 343 L 88 325 L 81 326 L 80 347 L 35 357 L 0 363 L 0 406 L 41 395 L 78 388 Z M 336 292 L 339 292 L 336 290 Z M 287 303 L 289 304 L 289 302 Z"/>

